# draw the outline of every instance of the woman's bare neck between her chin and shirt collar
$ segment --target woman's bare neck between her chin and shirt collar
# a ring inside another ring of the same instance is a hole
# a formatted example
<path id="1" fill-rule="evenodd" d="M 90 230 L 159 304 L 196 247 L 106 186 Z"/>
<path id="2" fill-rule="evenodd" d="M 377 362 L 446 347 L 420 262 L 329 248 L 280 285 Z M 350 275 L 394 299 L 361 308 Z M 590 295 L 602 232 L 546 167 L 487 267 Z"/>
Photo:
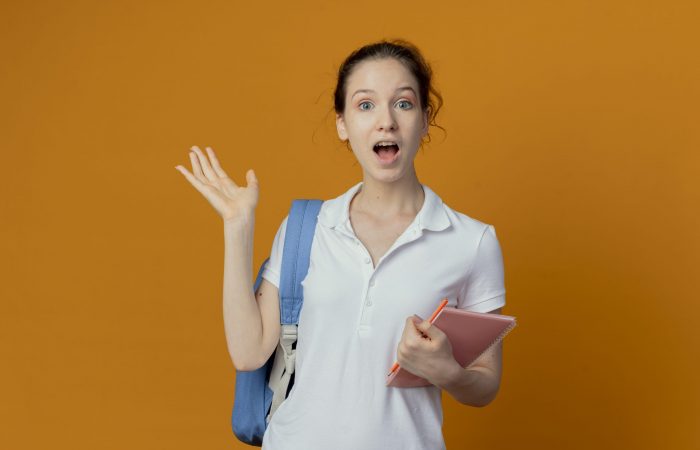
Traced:
<path id="1" fill-rule="evenodd" d="M 386 183 L 365 177 L 353 199 L 357 210 L 378 219 L 415 216 L 425 201 L 420 181 L 413 176 Z"/>

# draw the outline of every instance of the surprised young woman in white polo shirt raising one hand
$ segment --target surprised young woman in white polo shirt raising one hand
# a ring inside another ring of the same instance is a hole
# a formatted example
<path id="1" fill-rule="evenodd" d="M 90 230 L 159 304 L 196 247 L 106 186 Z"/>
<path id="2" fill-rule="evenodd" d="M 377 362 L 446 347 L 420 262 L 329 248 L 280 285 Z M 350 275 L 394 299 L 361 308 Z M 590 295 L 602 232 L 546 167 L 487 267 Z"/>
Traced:
<path id="1" fill-rule="evenodd" d="M 501 345 L 467 370 L 444 333 L 420 317 L 443 298 L 451 307 L 500 313 L 505 288 L 495 230 L 452 210 L 418 180 L 414 158 L 441 97 L 413 45 L 382 41 L 353 52 L 338 72 L 334 102 L 338 136 L 362 167 L 362 181 L 319 212 L 302 282 L 295 382 L 263 448 L 444 449 L 441 389 L 465 405 L 490 403 Z M 287 218 L 253 293 L 258 180 L 249 170 L 247 187 L 238 186 L 212 149 L 209 159 L 192 149 L 193 173 L 178 169 L 224 220 L 228 348 L 238 370 L 256 369 L 279 339 Z M 433 386 L 385 386 L 394 360 Z"/>

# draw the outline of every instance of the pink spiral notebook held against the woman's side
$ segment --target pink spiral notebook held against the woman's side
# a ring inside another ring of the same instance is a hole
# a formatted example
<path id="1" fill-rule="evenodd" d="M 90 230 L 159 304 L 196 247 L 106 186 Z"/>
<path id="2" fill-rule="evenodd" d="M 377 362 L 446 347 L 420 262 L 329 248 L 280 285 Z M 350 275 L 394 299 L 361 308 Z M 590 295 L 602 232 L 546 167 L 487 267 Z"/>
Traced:
<path id="1" fill-rule="evenodd" d="M 513 329 L 515 317 L 445 307 L 435 317 L 433 325 L 450 339 L 452 354 L 457 362 L 467 367 Z M 387 377 L 386 385 L 419 387 L 430 386 L 431 383 L 399 366 Z"/>

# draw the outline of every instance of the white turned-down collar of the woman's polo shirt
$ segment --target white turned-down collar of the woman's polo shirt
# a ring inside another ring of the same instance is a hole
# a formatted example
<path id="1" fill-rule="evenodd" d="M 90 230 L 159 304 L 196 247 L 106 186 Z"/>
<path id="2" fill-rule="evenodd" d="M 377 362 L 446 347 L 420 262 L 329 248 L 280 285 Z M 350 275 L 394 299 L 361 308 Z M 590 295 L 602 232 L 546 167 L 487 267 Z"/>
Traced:
<path id="1" fill-rule="evenodd" d="M 318 215 L 318 222 L 328 228 L 339 226 L 350 228 L 350 200 L 352 200 L 362 184 L 363 182 L 360 181 L 340 196 L 326 201 L 324 208 L 321 209 Z M 422 183 L 421 186 L 425 193 L 425 200 L 420 211 L 418 211 L 413 226 L 416 226 L 419 230 L 427 229 L 433 231 L 441 231 L 448 228 L 451 223 L 445 212 L 442 199 L 428 186 Z"/>

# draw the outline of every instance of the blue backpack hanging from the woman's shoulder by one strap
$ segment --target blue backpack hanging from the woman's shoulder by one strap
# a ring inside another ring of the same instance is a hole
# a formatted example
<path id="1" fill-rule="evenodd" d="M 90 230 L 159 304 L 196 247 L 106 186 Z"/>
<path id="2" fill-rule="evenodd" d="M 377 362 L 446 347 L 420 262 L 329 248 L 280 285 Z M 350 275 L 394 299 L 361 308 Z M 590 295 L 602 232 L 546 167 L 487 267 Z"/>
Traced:
<path id="1" fill-rule="evenodd" d="M 249 445 L 262 446 L 267 424 L 294 384 L 297 325 L 304 301 L 301 282 L 309 270 L 311 244 L 322 203 L 322 200 L 292 201 L 280 274 L 280 340 L 262 367 L 250 371 L 236 370 L 231 425 L 236 437 Z M 253 292 L 262 282 L 262 273 L 269 259 L 260 266 Z"/>

